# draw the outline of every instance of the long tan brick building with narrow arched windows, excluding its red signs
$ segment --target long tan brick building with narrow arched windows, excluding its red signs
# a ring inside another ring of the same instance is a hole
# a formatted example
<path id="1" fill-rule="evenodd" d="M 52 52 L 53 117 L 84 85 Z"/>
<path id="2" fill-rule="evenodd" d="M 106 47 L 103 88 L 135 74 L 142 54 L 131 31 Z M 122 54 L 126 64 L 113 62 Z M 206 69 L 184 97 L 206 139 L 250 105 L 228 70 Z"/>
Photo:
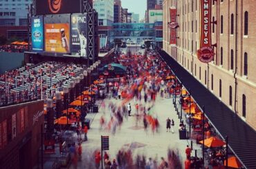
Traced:
<path id="1" fill-rule="evenodd" d="M 176 7 L 176 46 L 170 46 L 170 8 Z M 200 1 L 163 1 L 163 50 L 194 78 L 223 101 L 241 119 L 256 129 L 256 1 L 212 1 L 214 60 L 202 63 L 200 47 Z M 237 16 L 237 17 L 236 17 Z"/>

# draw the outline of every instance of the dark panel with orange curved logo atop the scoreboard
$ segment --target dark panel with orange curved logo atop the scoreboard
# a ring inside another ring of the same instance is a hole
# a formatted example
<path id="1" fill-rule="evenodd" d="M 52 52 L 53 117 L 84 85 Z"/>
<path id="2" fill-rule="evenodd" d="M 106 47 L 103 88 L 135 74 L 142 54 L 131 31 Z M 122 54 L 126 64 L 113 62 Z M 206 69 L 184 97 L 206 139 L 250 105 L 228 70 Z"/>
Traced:
<path id="1" fill-rule="evenodd" d="M 81 0 L 36 0 L 35 14 L 64 14 L 81 12 Z"/>

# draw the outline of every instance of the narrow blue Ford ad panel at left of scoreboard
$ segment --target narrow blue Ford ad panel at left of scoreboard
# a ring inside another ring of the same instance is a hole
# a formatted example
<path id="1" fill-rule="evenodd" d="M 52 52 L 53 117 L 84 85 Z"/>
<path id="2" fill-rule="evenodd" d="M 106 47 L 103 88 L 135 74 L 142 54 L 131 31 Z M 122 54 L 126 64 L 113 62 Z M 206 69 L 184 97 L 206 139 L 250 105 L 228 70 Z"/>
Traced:
<path id="1" fill-rule="evenodd" d="M 31 18 L 31 40 L 33 52 L 42 52 L 44 50 L 44 23 L 43 17 L 32 17 Z"/>

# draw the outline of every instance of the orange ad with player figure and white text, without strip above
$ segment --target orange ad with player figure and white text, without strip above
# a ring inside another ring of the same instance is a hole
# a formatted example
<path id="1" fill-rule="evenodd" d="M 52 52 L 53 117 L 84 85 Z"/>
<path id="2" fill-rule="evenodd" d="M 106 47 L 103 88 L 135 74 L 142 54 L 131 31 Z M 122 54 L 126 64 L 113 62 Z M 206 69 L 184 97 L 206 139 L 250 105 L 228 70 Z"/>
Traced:
<path id="1" fill-rule="evenodd" d="M 46 52 L 70 52 L 69 23 L 46 23 L 44 34 Z"/>

